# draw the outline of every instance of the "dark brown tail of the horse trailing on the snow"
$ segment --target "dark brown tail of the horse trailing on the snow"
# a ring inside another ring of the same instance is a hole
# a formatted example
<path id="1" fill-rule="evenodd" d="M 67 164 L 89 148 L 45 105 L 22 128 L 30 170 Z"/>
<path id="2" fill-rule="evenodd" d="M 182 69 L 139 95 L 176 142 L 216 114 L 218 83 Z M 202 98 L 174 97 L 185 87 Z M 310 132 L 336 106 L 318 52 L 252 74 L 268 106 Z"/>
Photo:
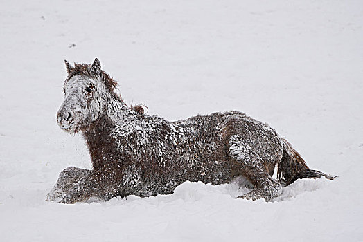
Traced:
<path id="1" fill-rule="evenodd" d="M 290 185 L 297 179 L 320 178 L 321 176 L 325 176 L 325 178 L 329 180 L 335 178 L 333 176 L 328 176 L 321 171 L 309 169 L 305 160 L 303 160 L 300 154 L 292 148 L 292 145 L 287 142 L 285 138 L 282 138 L 281 140 L 283 142 L 283 158 L 281 159 L 281 162 L 278 163 L 277 168 L 277 178 L 280 183 Z"/>

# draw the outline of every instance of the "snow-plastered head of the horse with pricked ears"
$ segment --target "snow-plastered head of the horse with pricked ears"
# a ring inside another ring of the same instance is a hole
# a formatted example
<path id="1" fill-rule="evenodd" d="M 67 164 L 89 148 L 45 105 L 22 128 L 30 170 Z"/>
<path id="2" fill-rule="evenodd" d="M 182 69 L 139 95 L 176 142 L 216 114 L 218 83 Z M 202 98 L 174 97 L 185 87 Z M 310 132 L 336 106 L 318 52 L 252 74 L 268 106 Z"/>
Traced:
<path id="1" fill-rule="evenodd" d="M 105 109 L 107 91 L 114 91 L 116 82 L 101 71 L 97 58 L 92 65 L 65 63 L 68 77 L 64 82 L 64 102 L 57 112 L 57 122 L 64 131 L 76 133 L 98 120 Z"/>

